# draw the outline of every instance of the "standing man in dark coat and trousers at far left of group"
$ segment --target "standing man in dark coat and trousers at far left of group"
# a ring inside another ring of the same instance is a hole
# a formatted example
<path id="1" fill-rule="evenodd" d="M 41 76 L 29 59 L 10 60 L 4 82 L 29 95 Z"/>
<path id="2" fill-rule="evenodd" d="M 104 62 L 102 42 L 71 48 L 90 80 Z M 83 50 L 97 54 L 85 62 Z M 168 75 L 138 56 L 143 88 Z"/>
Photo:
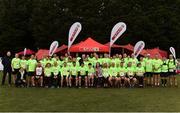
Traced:
<path id="1" fill-rule="evenodd" d="M 9 85 L 11 85 L 11 73 L 12 73 L 12 67 L 11 67 L 11 52 L 8 51 L 6 56 L 2 58 L 2 64 L 4 66 L 3 70 L 3 77 L 2 77 L 2 85 L 5 84 L 6 76 L 9 75 Z"/>

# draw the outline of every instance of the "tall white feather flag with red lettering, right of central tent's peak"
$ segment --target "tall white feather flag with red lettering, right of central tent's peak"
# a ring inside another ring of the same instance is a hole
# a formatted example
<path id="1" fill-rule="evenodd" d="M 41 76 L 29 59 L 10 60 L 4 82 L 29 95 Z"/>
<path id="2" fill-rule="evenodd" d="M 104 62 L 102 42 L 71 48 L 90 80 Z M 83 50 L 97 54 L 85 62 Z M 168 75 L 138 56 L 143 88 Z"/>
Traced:
<path id="1" fill-rule="evenodd" d="M 110 47 L 125 31 L 126 31 L 126 24 L 124 22 L 119 22 L 113 27 L 111 31 Z"/>

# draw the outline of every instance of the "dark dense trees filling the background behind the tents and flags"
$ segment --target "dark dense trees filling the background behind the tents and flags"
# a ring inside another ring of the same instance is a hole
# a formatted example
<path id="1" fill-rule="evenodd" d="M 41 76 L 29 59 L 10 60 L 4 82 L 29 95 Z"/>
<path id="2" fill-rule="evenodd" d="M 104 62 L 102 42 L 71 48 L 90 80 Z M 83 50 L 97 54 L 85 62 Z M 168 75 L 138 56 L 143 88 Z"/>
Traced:
<path id="1" fill-rule="evenodd" d="M 127 31 L 117 44 L 144 40 L 146 48 L 180 50 L 180 0 L 0 0 L 0 9 L 1 52 L 67 44 L 76 21 L 83 29 L 75 43 L 89 36 L 106 43 L 123 21 Z"/>

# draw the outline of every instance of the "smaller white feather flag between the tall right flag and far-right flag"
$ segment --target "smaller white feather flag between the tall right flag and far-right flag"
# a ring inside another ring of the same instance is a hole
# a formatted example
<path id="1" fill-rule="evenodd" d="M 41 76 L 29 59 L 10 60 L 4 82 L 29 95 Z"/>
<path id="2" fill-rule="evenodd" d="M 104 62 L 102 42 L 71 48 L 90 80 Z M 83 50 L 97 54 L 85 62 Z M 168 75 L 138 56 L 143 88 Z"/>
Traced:
<path id="1" fill-rule="evenodd" d="M 138 55 L 141 53 L 141 51 L 144 49 L 145 43 L 143 41 L 139 41 L 134 46 L 134 56 L 138 57 Z"/>

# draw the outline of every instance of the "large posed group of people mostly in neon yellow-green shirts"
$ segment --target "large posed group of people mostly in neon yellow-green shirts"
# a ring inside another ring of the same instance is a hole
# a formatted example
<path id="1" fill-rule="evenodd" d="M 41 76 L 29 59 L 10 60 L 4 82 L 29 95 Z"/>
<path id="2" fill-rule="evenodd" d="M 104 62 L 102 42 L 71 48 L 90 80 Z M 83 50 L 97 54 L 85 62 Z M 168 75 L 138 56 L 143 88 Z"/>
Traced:
<path id="1" fill-rule="evenodd" d="M 54 55 L 36 60 L 12 59 L 13 80 L 17 87 L 144 87 L 177 86 L 176 68 L 178 62 L 169 59 L 151 58 L 149 54 L 139 60 L 132 54 L 91 55 L 81 57 Z"/>

